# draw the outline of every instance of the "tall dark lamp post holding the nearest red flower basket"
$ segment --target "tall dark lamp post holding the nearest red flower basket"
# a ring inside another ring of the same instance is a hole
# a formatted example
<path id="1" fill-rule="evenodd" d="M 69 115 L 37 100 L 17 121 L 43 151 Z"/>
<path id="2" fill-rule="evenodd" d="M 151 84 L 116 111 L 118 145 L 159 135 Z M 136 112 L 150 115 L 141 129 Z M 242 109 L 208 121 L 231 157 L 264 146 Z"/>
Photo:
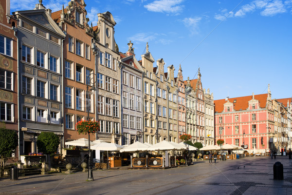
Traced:
<path id="1" fill-rule="evenodd" d="M 89 85 L 92 85 L 91 91 L 95 90 L 94 84 L 96 83 L 96 80 L 94 78 L 91 78 L 91 75 L 96 77 L 94 73 L 91 73 L 87 76 L 86 78 L 86 91 L 87 91 L 87 120 L 89 120 Z M 91 166 L 91 150 L 90 150 L 90 132 L 88 132 L 88 156 L 89 156 L 89 161 L 88 161 L 88 181 L 93 181 L 93 174 L 92 174 L 92 166 Z"/>

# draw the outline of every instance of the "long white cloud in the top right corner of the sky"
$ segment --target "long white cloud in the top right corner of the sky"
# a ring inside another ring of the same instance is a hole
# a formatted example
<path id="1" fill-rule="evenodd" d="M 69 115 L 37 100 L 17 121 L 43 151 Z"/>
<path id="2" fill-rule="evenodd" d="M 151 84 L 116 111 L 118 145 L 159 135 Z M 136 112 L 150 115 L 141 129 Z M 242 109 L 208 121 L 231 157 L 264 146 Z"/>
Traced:
<path id="1" fill-rule="evenodd" d="M 249 4 L 241 6 L 240 9 L 235 12 L 234 17 L 243 17 L 256 10 L 260 11 L 261 16 L 274 16 L 276 14 L 285 13 L 287 8 L 290 8 L 291 5 L 292 0 L 286 0 L 284 3 L 282 0 L 254 0 Z M 224 9 L 221 12 L 221 14 L 216 14 L 214 18 L 217 20 L 224 20 L 226 17 L 226 13 L 224 12 L 226 11 Z"/>

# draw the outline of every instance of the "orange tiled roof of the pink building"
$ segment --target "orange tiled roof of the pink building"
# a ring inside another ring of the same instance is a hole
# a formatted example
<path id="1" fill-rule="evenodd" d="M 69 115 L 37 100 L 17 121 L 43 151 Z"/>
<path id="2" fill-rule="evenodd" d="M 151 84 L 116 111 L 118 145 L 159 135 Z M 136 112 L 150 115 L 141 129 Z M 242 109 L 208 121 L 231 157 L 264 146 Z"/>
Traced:
<path id="1" fill-rule="evenodd" d="M 268 94 L 255 95 L 255 99 L 259 101 L 259 107 L 265 108 L 267 103 Z M 234 100 L 236 99 L 236 102 Z M 253 99 L 253 96 L 237 97 L 237 98 L 228 98 L 228 100 L 234 104 L 234 109 L 236 111 L 246 110 L 248 108 L 248 101 Z M 223 104 L 226 103 L 225 99 L 214 100 L 215 112 L 221 113 L 224 109 Z"/>

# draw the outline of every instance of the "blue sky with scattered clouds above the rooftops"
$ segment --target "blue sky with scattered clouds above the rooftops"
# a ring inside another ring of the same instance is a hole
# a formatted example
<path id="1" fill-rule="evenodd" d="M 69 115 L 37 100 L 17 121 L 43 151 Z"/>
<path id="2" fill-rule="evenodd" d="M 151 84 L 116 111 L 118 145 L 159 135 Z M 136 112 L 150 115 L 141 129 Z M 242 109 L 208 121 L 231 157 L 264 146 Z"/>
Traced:
<path id="1" fill-rule="evenodd" d="M 53 11 L 69 0 L 43 0 Z M 11 0 L 11 12 L 33 9 L 38 0 Z M 290 98 L 292 0 L 86 0 L 93 26 L 110 11 L 121 52 L 134 43 L 136 58 L 146 42 L 154 59 L 182 65 L 183 78 L 197 78 L 214 99 L 267 93 Z M 154 64 L 156 66 L 156 64 Z"/>

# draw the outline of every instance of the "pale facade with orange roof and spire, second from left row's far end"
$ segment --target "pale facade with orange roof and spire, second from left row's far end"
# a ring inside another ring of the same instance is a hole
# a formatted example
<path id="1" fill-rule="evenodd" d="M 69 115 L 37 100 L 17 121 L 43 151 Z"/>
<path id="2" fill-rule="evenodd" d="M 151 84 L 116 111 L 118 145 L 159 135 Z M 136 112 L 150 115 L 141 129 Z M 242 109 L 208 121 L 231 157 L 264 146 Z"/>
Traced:
<path id="1" fill-rule="evenodd" d="M 198 78 L 184 81 L 186 85 L 186 99 L 189 101 L 187 108 L 187 118 L 190 118 L 188 123 L 189 128 L 193 128 L 193 142 L 201 142 L 205 145 L 205 98 L 201 83 L 200 68 Z M 194 126 L 195 125 L 195 126 Z"/>

